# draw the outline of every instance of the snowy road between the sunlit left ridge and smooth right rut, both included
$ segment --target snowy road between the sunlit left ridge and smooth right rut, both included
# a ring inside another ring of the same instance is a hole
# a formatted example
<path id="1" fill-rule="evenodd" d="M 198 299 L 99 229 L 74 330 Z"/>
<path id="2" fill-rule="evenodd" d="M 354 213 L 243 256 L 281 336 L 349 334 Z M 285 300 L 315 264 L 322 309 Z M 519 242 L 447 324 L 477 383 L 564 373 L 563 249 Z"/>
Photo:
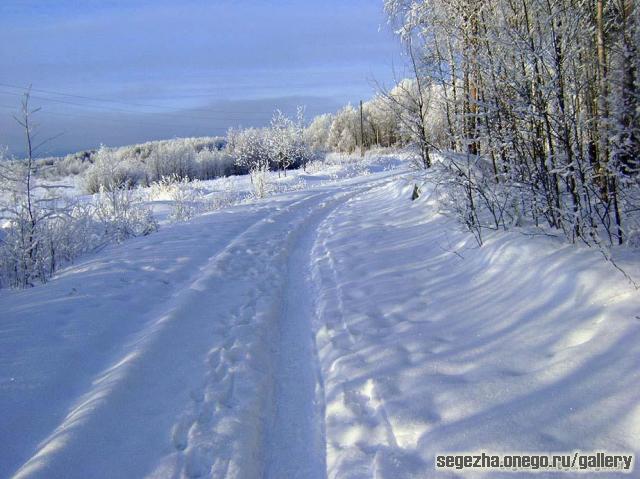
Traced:
<path id="1" fill-rule="evenodd" d="M 326 477 L 311 252 L 332 211 L 394 176 L 301 193 L 242 230 L 15 477 Z"/>

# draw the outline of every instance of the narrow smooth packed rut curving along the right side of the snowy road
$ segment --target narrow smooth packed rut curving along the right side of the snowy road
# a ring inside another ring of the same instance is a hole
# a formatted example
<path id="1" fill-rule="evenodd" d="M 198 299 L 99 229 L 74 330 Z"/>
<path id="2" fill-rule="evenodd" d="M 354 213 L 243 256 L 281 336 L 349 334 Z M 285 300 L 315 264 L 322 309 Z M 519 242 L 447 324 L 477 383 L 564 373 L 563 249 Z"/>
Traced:
<path id="1" fill-rule="evenodd" d="M 395 175 L 393 175 L 395 176 Z M 275 351 L 274 416 L 267 427 L 267 479 L 327 476 L 324 381 L 314 335 L 312 281 L 318 229 L 354 197 L 391 181 L 369 181 L 320 205 L 289 239 L 287 277 Z M 355 191 L 354 191 L 355 190 Z"/>

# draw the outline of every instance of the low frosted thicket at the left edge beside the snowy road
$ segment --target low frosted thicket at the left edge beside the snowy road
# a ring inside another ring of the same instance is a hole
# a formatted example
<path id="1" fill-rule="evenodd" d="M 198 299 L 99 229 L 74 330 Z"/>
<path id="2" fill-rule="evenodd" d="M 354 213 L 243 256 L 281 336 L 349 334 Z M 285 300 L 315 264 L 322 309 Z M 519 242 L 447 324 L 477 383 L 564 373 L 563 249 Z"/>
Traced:
<path id="1" fill-rule="evenodd" d="M 46 282 L 61 266 L 96 247 L 157 229 L 151 210 L 126 187 L 102 189 L 92 202 L 43 196 L 32 207 L 25 196 L 3 200 L 0 287 Z"/>

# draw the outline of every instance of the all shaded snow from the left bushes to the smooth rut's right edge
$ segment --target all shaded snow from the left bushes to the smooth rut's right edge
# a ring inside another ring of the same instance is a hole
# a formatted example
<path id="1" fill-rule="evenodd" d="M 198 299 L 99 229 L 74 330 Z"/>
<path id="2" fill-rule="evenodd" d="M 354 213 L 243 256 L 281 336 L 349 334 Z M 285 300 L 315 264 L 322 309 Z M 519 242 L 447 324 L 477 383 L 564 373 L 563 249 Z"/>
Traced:
<path id="1" fill-rule="evenodd" d="M 19 360 L 3 357 L 1 404 L 24 416 L 3 418 L 22 442 L 0 452 L 3 474 L 24 462 L 17 477 L 322 477 L 311 247 L 325 215 L 386 181 L 168 228 L 9 306 L 3 326 L 16 334 L 4 339 Z M 44 337 L 33 315 L 55 321 Z"/>

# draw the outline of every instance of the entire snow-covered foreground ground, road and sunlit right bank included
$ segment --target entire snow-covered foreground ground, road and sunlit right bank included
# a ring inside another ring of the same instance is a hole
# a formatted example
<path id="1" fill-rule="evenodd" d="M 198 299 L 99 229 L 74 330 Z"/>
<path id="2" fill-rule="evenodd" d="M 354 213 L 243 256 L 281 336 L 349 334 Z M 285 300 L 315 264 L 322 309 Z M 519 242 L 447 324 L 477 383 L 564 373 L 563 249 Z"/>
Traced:
<path id="1" fill-rule="evenodd" d="M 500 477 L 434 456 L 640 454 L 640 297 L 597 252 L 477 248 L 404 168 L 309 176 L 0 291 L 0 476 Z"/>

